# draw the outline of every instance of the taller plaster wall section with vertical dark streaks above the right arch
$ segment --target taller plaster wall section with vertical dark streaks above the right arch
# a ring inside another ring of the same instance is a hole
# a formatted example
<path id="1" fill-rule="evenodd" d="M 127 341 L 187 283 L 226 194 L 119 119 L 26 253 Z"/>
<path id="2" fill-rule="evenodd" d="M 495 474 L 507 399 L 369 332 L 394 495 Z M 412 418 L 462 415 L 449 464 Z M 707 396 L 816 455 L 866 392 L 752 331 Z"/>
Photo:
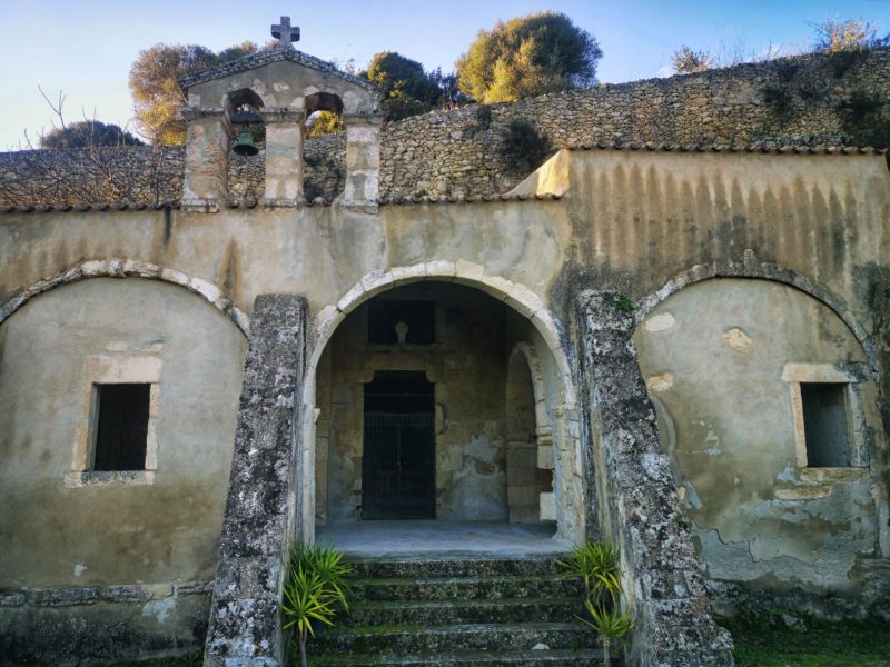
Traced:
<path id="1" fill-rule="evenodd" d="M 630 156 L 572 152 L 576 282 L 636 300 L 696 265 L 724 275 L 774 265 L 870 329 L 876 265 L 890 248 L 883 156 Z"/>

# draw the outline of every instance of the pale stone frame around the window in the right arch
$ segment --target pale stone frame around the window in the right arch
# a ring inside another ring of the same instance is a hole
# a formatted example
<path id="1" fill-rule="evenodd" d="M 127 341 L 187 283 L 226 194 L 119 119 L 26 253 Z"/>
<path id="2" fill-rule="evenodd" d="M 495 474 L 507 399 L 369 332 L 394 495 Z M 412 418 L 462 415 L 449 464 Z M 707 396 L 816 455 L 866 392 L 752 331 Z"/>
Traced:
<path id="1" fill-rule="evenodd" d="M 794 421 L 794 447 L 798 469 L 803 481 L 854 481 L 870 474 L 866 414 L 862 409 L 860 385 L 868 377 L 863 364 L 785 364 L 782 380 L 791 392 L 791 411 Z M 847 434 L 849 466 L 811 467 L 807 455 L 807 435 L 803 421 L 801 384 L 844 385 L 847 398 Z"/>

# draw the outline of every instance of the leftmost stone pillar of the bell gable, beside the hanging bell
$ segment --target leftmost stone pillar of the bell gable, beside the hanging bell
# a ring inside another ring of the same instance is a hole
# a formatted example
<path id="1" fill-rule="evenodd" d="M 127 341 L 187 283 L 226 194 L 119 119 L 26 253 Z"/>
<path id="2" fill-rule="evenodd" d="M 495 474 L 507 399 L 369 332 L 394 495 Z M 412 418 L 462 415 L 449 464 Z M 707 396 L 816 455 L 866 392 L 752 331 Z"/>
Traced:
<path id="1" fill-rule="evenodd" d="M 228 199 L 231 126 L 222 109 L 187 107 L 188 123 L 182 209 L 216 212 Z"/>

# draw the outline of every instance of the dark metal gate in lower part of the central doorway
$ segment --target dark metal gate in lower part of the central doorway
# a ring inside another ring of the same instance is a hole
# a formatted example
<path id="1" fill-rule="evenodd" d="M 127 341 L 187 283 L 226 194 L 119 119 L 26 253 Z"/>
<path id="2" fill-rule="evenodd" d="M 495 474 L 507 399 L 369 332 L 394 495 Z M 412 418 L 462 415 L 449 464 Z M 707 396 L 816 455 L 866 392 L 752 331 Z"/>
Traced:
<path id="1" fill-rule="evenodd" d="M 432 412 L 365 412 L 362 516 L 436 518 L 436 441 Z"/>

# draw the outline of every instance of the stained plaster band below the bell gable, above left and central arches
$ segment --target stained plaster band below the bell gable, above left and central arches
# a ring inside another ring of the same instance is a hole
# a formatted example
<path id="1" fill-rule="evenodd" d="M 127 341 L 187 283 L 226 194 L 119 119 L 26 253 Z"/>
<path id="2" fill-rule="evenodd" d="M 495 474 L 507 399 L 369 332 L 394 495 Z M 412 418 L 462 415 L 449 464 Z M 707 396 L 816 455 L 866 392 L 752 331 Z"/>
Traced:
<path id="1" fill-rule="evenodd" d="M 257 293 L 288 291 L 305 293 L 318 312 L 375 270 L 427 259 L 468 259 L 545 298 L 568 233 L 558 202 L 389 207 L 378 217 L 337 207 L 7 215 L 0 300 L 109 257 L 178 269 L 217 286 L 246 312 Z"/>

